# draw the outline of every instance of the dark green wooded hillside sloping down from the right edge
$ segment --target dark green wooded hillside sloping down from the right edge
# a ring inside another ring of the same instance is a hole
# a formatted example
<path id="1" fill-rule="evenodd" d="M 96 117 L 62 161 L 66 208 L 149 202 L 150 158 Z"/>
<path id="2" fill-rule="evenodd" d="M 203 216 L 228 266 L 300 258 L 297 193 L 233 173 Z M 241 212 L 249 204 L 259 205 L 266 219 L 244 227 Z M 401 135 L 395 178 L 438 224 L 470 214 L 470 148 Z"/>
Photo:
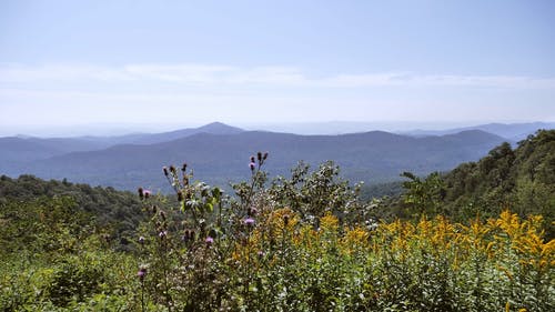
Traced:
<path id="1" fill-rule="evenodd" d="M 539 130 L 514 150 L 503 143 L 480 161 L 445 174 L 404 175 L 408 181 L 401 205 L 412 213 L 440 213 L 464 221 L 508 209 L 521 217 L 542 214 L 548 236 L 555 234 L 555 130 Z"/>

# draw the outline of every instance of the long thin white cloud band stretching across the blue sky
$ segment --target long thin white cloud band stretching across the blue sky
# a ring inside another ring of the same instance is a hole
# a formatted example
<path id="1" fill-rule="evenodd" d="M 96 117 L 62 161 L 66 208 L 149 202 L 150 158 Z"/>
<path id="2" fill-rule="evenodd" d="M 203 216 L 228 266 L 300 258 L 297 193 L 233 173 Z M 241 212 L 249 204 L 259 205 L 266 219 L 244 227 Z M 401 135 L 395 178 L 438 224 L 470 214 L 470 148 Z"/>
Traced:
<path id="1" fill-rule="evenodd" d="M 412 72 L 337 73 L 311 78 L 294 67 L 239 68 L 206 64 L 46 64 L 40 67 L 0 66 L 0 83 L 173 83 L 201 87 L 270 85 L 289 88 L 377 88 L 458 87 L 502 89 L 555 89 L 555 78 L 524 76 L 418 74 Z M 1 85 L 0 85 L 1 88 Z"/>

